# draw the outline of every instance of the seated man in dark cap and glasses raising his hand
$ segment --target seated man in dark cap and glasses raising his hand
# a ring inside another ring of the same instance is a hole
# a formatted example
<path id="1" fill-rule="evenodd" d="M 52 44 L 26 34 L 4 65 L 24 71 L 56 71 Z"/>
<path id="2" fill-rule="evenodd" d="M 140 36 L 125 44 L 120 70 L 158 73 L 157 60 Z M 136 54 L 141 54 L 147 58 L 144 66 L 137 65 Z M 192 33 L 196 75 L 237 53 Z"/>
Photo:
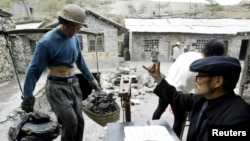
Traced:
<path id="1" fill-rule="evenodd" d="M 250 128 L 250 105 L 234 93 L 241 72 L 237 59 L 212 56 L 194 61 L 190 71 L 198 72 L 194 78 L 195 94 L 177 91 L 163 79 L 160 62 L 143 67 L 158 84 L 154 90 L 157 96 L 173 108 L 190 113 L 187 141 L 208 141 L 209 127 L 215 125 Z"/>

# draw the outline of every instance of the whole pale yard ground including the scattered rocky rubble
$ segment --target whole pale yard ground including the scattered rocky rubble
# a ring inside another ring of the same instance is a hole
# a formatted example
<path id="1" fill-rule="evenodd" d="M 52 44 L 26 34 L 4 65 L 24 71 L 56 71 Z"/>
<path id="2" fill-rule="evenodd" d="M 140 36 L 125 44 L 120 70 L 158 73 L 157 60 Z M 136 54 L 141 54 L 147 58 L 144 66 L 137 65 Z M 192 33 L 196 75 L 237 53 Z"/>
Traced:
<path id="1" fill-rule="evenodd" d="M 157 96 L 152 94 L 152 89 L 154 87 L 154 83 L 151 83 L 151 80 L 148 75 L 146 75 L 146 71 L 142 68 L 142 65 L 150 65 L 151 62 L 130 62 L 126 61 L 120 62 L 118 68 L 112 69 L 116 72 L 120 72 L 118 70 L 123 71 L 131 71 L 133 75 L 140 76 L 140 86 L 138 88 L 143 89 L 145 93 L 139 92 L 135 85 L 132 86 L 132 101 L 134 103 L 131 105 L 131 119 L 132 121 L 136 120 L 150 120 L 152 117 L 152 113 L 156 108 L 156 103 L 158 102 Z M 162 62 L 162 71 L 166 74 L 167 69 L 172 64 L 172 62 Z M 136 71 L 135 71 L 136 70 Z M 110 72 L 103 72 L 103 76 L 105 74 L 110 74 Z M 140 74 L 140 75 L 139 75 Z M 108 75 L 112 76 L 112 75 Z M 21 84 L 23 84 L 24 77 L 20 76 Z M 44 95 L 43 86 L 45 84 L 46 74 L 44 74 L 41 79 L 38 81 L 36 86 L 36 110 L 49 114 L 53 119 L 55 119 L 54 113 L 51 111 L 51 108 L 48 104 L 48 101 Z M 106 79 L 107 80 L 107 79 Z M 142 80 L 149 83 L 144 83 L 142 85 Z M 146 86 L 147 85 L 147 86 Z M 144 86 L 144 87 L 142 87 Z M 121 98 L 118 96 L 119 86 L 114 86 L 110 88 L 109 84 L 104 86 L 104 90 L 107 93 L 114 93 L 117 104 L 121 107 Z M 140 90 L 142 91 L 142 90 Z M 6 86 L 1 87 L 0 91 L 0 138 L 1 141 L 8 141 L 8 130 L 11 126 L 15 125 L 15 123 L 20 119 L 20 90 L 17 82 L 13 82 Z M 97 124 L 95 121 L 90 119 L 85 113 L 85 130 L 84 130 L 84 141 L 106 141 L 106 128 L 105 126 L 101 126 Z M 170 125 L 173 123 L 172 113 L 166 111 L 162 116 L 162 119 L 167 120 Z M 124 110 L 121 108 L 119 120 L 117 122 L 123 122 L 124 119 Z M 60 136 L 55 139 L 55 141 L 59 141 Z"/>

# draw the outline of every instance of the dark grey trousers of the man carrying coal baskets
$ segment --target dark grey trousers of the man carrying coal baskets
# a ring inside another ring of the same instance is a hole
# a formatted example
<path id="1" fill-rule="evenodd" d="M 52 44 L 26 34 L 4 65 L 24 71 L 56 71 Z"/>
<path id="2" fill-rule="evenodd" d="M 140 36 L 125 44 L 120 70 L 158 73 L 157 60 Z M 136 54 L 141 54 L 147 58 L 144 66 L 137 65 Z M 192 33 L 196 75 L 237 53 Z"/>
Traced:
<path id="1" fill-rule="evenodd" d="M 58 123 L 62 125 L 61 141 L 82 141 L 84 119 L 79 83 L 48 80 L 45 92 Z"/>

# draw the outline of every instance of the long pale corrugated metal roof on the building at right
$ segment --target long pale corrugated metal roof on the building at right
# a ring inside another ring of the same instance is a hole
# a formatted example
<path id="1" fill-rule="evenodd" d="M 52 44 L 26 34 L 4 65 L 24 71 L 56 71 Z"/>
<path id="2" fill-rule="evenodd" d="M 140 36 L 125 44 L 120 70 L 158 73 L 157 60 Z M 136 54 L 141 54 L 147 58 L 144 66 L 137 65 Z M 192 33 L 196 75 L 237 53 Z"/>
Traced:
<path id="1" fill-rule="evenodd" d="M 249 19 L 125 19 L 130 32 L 237 34 L 250 32 Z"/>

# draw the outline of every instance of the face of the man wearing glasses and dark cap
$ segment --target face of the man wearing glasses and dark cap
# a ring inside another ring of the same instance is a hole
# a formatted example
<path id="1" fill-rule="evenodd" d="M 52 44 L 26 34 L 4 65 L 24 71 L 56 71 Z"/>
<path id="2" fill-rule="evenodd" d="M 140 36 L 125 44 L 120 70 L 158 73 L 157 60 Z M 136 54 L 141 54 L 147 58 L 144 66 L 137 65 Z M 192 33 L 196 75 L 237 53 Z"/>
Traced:
<path id="1" fill-rule="evenodd" d="M 198 73 L 195 79 L 195 94 L 207 96 L 213 94 L 214 86 L 213 86 L 213 76 L 206 73 Z"/>

